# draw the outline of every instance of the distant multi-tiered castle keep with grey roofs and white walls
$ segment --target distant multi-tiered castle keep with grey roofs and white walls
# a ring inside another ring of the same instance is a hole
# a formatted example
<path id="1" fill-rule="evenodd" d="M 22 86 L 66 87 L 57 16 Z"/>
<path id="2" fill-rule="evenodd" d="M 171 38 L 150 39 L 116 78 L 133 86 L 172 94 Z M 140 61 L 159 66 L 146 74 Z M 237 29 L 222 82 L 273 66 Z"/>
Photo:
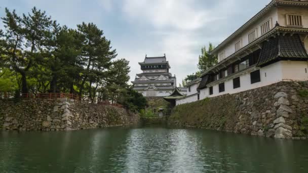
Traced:
<path id="1" fill-rule="evenodd" d="M 166 97 L 172 94 L 176 87 L 176 77 L 169 72 L 171 68 L 166 55 L 163 57 L 147 57 L 139 63 L 142 73 L 136 74 L 132 81 L 134 90 L 145 97 Z M 186 94 L 181 89 L 182 94 Z"/>

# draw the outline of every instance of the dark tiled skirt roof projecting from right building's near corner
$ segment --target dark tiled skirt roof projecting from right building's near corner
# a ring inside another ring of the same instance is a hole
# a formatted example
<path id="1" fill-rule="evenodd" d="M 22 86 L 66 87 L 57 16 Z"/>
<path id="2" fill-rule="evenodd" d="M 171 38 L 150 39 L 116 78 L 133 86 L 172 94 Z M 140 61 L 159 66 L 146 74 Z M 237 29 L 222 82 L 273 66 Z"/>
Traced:
<path id="1" fill-rule="evenodd" d="M 307 60 L 308 55 L 298 34 L 279 35 L 263 42 L 258 66 L 279 60 Z"/>

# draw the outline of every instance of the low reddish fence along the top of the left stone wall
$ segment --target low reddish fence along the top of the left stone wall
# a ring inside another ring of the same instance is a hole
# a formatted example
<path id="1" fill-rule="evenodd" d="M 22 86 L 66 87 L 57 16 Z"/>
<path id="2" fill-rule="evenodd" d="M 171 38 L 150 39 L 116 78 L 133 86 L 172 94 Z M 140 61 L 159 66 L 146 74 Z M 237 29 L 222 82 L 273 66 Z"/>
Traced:
<path id="1" fill-rule="evenodd" d="M 61 98 L 68 98 L 68 99 L 73 99 L 75 101 L 81 101 L 81 102 L 87 102 L 83 101 L 82 97 L 79 95 L 74 95 L 74 94 L 67 94 L 67 93 L 26 93 L 26 94 L 21 94 L 21 98 L 27 98 L 27 99 L 61 99 Z M 8 94 L 4 94 L 4 99 L 10 99 L 12 98 Z M 0 97 L 1 99 L 1 97 Z M 93 103 L 96 104 L 96 103 Z M 120 108 L 124 108 L 123 105 L 117 104 L 117 103 L 110 103 L 109 101 L 102 101 L 102 102 L 97 102 L 97 105 L 111 105 L 111 106 L 116 106 Z"/>

